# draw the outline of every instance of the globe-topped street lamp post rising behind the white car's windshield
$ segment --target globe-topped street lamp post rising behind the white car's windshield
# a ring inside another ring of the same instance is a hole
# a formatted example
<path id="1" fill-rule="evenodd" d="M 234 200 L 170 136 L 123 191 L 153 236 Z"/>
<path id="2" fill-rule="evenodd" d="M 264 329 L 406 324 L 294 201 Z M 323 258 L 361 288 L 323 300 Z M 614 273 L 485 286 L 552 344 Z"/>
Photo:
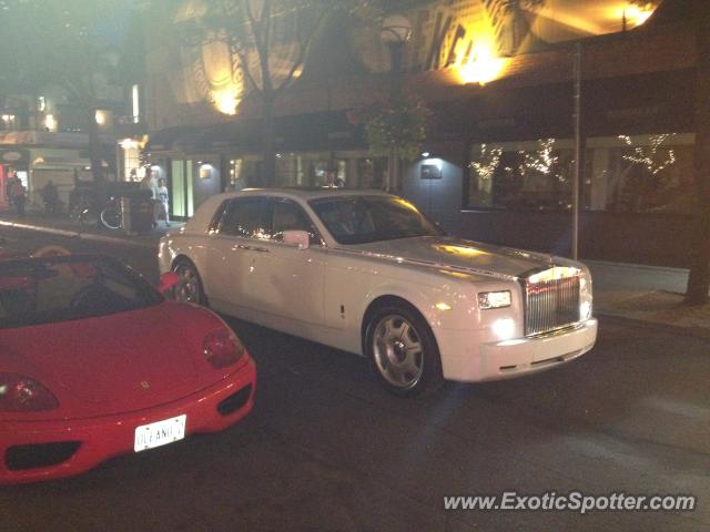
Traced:
<path id="1" fill-rule="evenodd" d="M 392 92 L 398 94 L 402 90 L 402 73 L 404 63 L 404 47 L 412 37 L 412 22 L 403 14 L 390 14 L 382 24 L 379 38 L 389 50 Z M 398 146 L 389 149 L 387 157 L 387 183 L 389 192 L 397 192 L 399 188 L 400 161 Z"/>

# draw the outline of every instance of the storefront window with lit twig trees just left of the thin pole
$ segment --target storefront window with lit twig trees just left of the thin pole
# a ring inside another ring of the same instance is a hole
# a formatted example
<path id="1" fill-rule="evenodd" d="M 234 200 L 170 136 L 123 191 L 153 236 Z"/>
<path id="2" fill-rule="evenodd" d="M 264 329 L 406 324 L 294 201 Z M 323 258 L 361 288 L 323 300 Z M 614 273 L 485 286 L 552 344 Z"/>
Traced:
<path id="1" fill-rule="evenodd" d="M 475 144 L 469 208 L 566 211 L 571 208 L 574 142 L 544 139 Z"/>

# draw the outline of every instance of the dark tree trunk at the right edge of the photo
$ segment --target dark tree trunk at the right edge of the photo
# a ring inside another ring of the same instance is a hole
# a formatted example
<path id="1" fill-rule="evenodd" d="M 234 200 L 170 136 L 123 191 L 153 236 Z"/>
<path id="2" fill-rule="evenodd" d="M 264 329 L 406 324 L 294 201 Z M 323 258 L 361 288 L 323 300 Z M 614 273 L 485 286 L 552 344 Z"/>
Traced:
<path id="1" fill-rule="evenodd" d="M 708 303 L 710 290 L 710 10 L 706 0 L 690 2 L 696 34 L 696 153 L 697 198 L 694 245 L 686 303 Z"/>

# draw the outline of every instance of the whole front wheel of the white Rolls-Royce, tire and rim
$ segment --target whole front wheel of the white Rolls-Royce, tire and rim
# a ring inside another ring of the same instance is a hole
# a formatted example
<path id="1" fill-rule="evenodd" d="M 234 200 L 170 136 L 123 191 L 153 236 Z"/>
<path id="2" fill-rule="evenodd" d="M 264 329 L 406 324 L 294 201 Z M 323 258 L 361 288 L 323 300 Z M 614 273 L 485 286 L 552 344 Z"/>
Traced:
<path id="1" fill-rule="evenodd" d="M 365 346 L 379 382 L 396 396 L 438 389 L 444 379 L 438 347 L 422 316 L 406 305 L 386 305 L 368 321 Z"/>

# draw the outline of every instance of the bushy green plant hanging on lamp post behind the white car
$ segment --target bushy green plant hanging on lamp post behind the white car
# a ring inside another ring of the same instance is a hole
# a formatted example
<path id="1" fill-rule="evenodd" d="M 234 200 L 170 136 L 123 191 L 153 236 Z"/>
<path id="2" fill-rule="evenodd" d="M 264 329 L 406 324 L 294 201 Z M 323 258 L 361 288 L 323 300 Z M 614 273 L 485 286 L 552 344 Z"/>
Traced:
<path id="1" fill-rule="evenodd" d="M 393 157 L 392 167 L 398 173 L 400 160 L 414 161 L 422 153 L 432 112 L 424 100 L 395 86 L 348 117 L 363 127 L 371 153 Z M 387 177 L 387 190 L 397 192 L 398 176 Z"/>

